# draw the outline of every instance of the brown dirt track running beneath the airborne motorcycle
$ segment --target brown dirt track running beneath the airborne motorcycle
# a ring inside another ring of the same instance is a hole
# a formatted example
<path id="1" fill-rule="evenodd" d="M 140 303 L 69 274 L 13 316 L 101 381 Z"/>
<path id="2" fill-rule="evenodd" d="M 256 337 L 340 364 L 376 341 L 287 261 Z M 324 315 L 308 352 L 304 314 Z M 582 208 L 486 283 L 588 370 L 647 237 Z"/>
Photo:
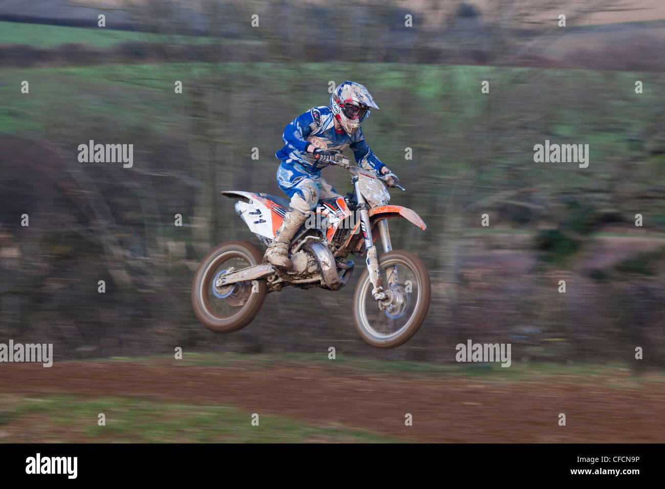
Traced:
<path id="1" fill-rule="evenodd" d="M 161 360 L 61 362 L 49 369 L 5 363 L 0 368 L 0 393 L 235 406 L 249 414 L 279 414 L 318 426 L 342 425 L 422 442 L 665 441 L 662 383 L 635 383 L 625 371 L 515 382 L 398 379 L 311 365 L 256 369 Z M 407 412 L 413 414 L 413 426 L 404 426 Z M 567 426 L 558 426 L 560 412 L 566 414 Z"/>

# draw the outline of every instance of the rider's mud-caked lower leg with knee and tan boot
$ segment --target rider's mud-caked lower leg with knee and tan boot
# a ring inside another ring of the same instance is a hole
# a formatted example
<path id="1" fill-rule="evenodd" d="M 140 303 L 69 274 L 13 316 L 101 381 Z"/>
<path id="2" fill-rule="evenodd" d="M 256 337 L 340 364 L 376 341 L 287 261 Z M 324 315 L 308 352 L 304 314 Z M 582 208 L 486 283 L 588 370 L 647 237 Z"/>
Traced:
<path id="1" fill-rule="evenodd" d="M 293 266 L 289 259 L 291 240 L 307 220 L 307 213 L 319 202 L 317 184 L 309 178 L 301 179 L 289 190 L 293 190 L 289 210 L 284 215 L 281 226 L 275 232 L 275 239 L 265 251 L 265 258 L 270 263 L 286 269 L 291 269 Z"/>

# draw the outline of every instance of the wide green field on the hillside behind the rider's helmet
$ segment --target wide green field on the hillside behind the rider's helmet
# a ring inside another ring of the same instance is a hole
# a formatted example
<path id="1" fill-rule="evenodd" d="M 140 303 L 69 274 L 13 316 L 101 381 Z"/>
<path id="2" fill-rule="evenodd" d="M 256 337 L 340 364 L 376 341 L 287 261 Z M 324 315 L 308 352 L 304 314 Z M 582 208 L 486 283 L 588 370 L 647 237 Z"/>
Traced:
<path id="1" fill-rule="evenodd" d="M 136 134 L 144 136 L 144 141 L 150 136 L 179 134 L 185 123 L 192 122 L 192 106 L 188 110 L 186 106 L 195 102 L 188 94 L 207 77 L 207 90 L 218 89 L 220 96 L 232 97 L 231 112 L 219 120 L 219 129 L 227 134 L 238 129 L 233 138 L 223 140 L 227 147 L 244 151 L 258 146 L 274 151 L 285 122 L 310 106 L 327 103 L 327 82 L 323 81 L 341 81 L 360 69 L 365 83 L 382 100 L 382 110 L 372 114 L 364 127 L 372 147 L 380 148 L 388 160 L 404 158 L 405 138 L 422 155 L 436 154 L 437 146 L 450 147 L 451 142 L 476 130 L 497 134 L 496 151 L 485 148 L 483 156 L 460 154 L 443 169 L 444 175 L 452 176 L 467 168 L 469 158 L 494 158 L 478 176 L 479 185 L 496 184 L 513 168 L 529 166 L 531 172 L 541 171 L 533 167 L 529 155 L 533 144 L 544 143 L 545 138 L 589 144 L 592 167 L 569 172 L 569 164 L 541 165 L 546 169 L 544 183 L 583 183 L 592 172 L 596 172 L 594 178 L 602 178 L 597 172 L 602 174 L 604 160 L 630 154 L 631 138 L 648 128 L 644 111 L 657 106 L 665 90 L 665 79 L 657 75 L 612 73 L 607 92 L 589 100 L 579 93 L 580 84 L 608 86 L 606 72 L 464 65 L 162 63 L 5 69 L 0 84 L 0 134 L 37 132 L 55 140 L 80 134 L 76 140 L 83 141 L 95 132 L 108 134 L 109 128 L 124 140 Z M 522 78 L 530 80 L 526 95 L 520 91 Z M 634 80 L 646 78 L 652 79 L 651 86 L 637 98 L 632 90 Z M 218 88 L 211 80 L 217 81 Z M 483 80 L 494 83 L 498 98 L 480 94 L 478 86 Z M 22 81 L 29 82 L 29 94 L 21 93 Z M 174 93 L 175 81 L 183 82 L 183 94 Z M 287 96 L 295 81 L 297 98 Z M 391 105 L 390 94 L 396 90 L 400 102 Z M 624 92 L 620 98 L 618 91 Z M 509 116 L 522 113 L 517 101 L 522 96 L 531 113 Z M 248 112 L 263 122 L 273 121 L 265 127 L 273 128 L 275 135 L 265 130 L 251 132 Z M 540 126 L 529 123 L 531 119 Z M 500 136 L 504 132 L 509 136 Z M 396 138 L 396 134 L 402 136 Z M 646 158 L 634 175 L 650 184 L 665 173 L 665 156 Z"/>

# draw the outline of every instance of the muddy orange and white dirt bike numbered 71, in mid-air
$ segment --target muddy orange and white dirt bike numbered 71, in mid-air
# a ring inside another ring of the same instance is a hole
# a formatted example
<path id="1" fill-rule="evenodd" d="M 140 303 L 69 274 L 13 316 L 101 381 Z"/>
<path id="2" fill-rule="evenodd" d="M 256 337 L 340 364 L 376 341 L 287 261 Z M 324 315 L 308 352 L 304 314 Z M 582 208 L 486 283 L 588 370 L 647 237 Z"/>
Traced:
<path id="1" fill-rule="evenodd" d="M 367 265 L 353 297 L 360 336 L 371 345 L 390 348 L 418 331 L 430 307 L 430 276 L 416 255 L 392 249 L 387 220 L 406 218 L 422 230 L 425 223 L 408 208 L 388 205 L 390 180 L 350 164 L 339 152 L 333 152 L 327 163 L 348 170 L 354 192 L 319 200 L 291 242 L 292 269 L 264 263 L 263 253 L 246 241 L 220 244 L 203 258 L 192 283 L 192 304 L 207 328 L 228 333 L 245 327 L 259 313 L 266 295 L 287 285 L 341 289 L 354 271 L 354 262 L 347 259 L 352 253 L 366 255 Z M 269 245 L 289 200 L 253 192 L 221 194 L 238 200 L 236 214 L 259 241 Z M 380 256 L 374 245 L 378 236 L 384 250 Z"/>

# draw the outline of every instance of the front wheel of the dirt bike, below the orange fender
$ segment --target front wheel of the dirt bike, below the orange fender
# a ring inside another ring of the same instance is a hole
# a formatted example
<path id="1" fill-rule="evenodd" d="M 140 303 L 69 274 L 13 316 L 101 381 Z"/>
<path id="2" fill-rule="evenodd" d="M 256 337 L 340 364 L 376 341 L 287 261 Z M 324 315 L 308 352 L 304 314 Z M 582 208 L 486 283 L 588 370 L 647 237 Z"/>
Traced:
<path id="1" fill-rule="evenodd" d="M 384 305 L 374 300 L 372 282 L 365 269 L 353 296 L 353 319 L 367 343 L 394 348 L 416 334 L 427 316 L 432 295 L 430 275 L 410 251 L 388 251 L 378 258 L 378 263 L 391 301 Z"/>

